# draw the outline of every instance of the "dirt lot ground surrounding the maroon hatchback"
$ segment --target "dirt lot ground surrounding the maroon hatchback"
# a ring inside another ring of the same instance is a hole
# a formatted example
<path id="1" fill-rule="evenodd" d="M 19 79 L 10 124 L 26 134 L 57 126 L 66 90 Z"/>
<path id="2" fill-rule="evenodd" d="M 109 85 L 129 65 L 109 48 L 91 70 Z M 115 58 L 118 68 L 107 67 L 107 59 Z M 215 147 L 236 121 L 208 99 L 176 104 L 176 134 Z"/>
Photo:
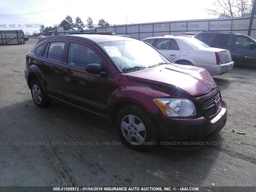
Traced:
<path id="1" fill-rule="evenodd" d="M 256 186 L 256 70 L 214 77 L 228 104 L 217 144 L 137 152 L 104 120 L 36 107 L 24 77 L 36 42 L 0 46 L 0 186 Z"/>

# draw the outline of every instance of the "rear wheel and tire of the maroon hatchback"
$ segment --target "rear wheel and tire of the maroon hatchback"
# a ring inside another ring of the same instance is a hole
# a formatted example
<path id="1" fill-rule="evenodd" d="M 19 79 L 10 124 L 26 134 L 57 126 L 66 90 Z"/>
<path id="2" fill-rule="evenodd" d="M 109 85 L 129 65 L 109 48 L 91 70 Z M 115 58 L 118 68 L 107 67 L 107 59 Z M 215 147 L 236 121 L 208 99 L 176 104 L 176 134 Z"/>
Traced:
<path id="1" fill-rule="evenodd" d="M 33 94 L 33 91 L 35 91 L 35 90 L 37 90 L 37 91 L 35 94 Z M 40 92 L 38 92 L 38 90 L 40 90 Z M 31 96 L 34 100 L 34 103 L 40 108 L 46 108 L 52 102 L 52 100 L 50 100 L 46 97 L 46 94 L 44 93 L 44 89 L 43 89 L 41 83 L 39 82 L 39 80 L 37 80 L 37 79 L 34 79 L 31 82 Z"/>

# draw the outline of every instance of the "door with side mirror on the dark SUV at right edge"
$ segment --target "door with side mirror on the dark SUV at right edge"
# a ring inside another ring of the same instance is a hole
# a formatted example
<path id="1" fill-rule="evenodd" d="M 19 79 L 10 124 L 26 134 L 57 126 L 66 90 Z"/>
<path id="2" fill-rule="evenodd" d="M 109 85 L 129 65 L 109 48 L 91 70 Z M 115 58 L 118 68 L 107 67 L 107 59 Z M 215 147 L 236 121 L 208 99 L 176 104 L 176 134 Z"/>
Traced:
<path id="1" fill-rule="evenodd" d="M 249 47 L 250 43 L 254 48 Z M 230 53 L 236 66 L 256 66 L 256 42 L 248 36 L 232 34 Z"/>

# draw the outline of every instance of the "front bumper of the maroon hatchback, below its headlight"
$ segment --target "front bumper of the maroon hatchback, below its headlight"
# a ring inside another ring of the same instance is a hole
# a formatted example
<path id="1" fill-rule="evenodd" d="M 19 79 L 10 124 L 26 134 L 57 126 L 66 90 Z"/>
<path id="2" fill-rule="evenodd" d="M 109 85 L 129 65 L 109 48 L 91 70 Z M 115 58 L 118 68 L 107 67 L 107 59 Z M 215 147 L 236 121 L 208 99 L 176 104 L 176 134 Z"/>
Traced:
<path id="1" fill-rule="evenodd" d="M 204 117 L 171 118 L 151 114 L 161 141 L 206 141 L 217 134 L 226 124 L 228 110 L 222 100 L 222 109 L 211 120 Z M 180 145 L 180 144 L 179 144 Z"/>

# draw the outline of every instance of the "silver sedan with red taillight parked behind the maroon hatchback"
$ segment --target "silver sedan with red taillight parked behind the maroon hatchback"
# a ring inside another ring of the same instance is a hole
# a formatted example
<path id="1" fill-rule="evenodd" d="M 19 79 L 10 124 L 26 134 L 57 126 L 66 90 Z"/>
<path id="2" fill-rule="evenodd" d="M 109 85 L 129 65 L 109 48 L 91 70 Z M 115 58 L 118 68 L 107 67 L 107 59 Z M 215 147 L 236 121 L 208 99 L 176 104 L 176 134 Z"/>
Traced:
<path id="1" fill-rule="evenodd" d="M 143 41 L 154 46 L 174 63 L 205 68 L 211 75 L 221 75 L 234 67 L 230 52 L 211 48 L 186 36 L 162 36 Z"/>

